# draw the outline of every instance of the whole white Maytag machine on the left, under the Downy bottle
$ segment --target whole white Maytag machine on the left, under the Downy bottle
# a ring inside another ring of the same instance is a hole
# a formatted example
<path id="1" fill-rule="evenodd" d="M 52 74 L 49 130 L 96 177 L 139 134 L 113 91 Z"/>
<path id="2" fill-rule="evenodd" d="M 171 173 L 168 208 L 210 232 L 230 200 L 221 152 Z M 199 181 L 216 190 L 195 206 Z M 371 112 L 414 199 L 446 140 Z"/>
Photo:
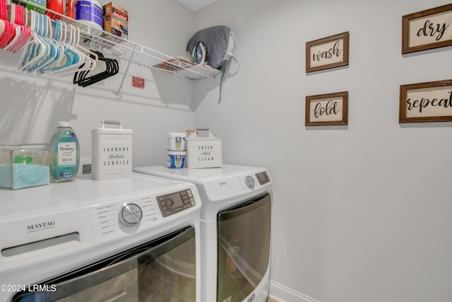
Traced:
<path id="1" fill-rule="evenodd" d="M 0 190 L 0 301 L 200 302 L 201 198 L 140 173 Z"/>

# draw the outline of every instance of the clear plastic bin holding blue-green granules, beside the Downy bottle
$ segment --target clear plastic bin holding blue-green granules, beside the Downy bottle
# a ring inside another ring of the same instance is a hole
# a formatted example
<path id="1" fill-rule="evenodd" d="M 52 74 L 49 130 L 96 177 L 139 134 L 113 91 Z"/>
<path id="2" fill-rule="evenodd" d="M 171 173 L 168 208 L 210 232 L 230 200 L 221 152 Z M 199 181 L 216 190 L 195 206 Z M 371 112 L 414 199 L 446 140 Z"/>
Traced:
<path id="1" fill-rule="evenodd" d="M 0 145 L 0 187 L 16 190 L 49 182 L 47 144 Z"/>

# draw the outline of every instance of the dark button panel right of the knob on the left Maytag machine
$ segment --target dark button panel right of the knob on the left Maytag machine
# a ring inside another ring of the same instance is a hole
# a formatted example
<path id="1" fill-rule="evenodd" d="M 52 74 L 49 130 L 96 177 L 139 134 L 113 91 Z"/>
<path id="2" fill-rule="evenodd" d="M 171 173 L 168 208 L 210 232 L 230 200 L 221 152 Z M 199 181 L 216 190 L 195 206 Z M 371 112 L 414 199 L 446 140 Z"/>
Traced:
<path id="1" fill-rule="evenodd" d="M 190 189 L 157 196 L 157 202 L 163 217 L 179 213 L 195 205 L 195 199 Z"/>

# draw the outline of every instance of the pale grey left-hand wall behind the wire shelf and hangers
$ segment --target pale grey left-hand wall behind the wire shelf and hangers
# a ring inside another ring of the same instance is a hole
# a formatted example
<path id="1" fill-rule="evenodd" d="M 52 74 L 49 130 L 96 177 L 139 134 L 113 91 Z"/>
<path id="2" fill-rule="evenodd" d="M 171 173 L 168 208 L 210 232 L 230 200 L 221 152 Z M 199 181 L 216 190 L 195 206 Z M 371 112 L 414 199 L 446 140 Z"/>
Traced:
<path id="1" fill-rule="evenodd" d="M 171 56 L 184 53 L 194 13 L 177 0 L 115 3 L 129 9 L 131 41 Z M 78 134 L 81 156 L 90 157 L 91 129 L 101 120 L 121 120 L 134 132 L 133 166 L 165 165 L 167 132 L 194 127 L 190 80 L 132 65 L 118 96 L 126 62 L 117 76 L 81 88 L 71 76 L 23 74 L 17 71 L 19 59 L 20 54 L 0 50 L 0 144 L 47 142 L 57 121 L 68 120 Z M 145 89 L 131 87 L 131 76 L 144 78 Z"/>

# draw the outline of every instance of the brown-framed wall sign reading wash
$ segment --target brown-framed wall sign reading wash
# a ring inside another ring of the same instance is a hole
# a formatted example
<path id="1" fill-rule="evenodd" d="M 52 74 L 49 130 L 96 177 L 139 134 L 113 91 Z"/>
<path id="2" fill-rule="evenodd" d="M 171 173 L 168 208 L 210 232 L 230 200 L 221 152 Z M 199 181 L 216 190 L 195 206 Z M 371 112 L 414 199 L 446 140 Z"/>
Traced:
<path id="1" fill-rule="evenodd" d="M 348 65 L 349 33 L 306 43 L 306 72 Z"/>

